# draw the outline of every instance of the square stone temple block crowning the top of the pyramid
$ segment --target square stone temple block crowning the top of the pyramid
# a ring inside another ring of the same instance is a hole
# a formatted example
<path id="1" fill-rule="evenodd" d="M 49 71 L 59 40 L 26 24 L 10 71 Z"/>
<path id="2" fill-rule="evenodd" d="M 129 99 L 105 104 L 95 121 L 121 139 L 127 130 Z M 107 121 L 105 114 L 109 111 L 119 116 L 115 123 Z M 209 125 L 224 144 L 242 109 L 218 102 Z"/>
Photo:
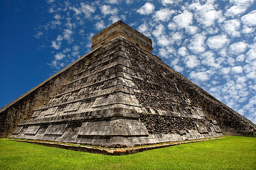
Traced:
<path id="1" fill-rule="evenodd" d="M 121 20 L 103 29 L 92 37 L 92 50 L 119 36 L 123 36 L 126 40 L 129 40 L 147 52 L 152 53 L 152 40 L 138 32 L 136 29 L 123 23 Z"/>

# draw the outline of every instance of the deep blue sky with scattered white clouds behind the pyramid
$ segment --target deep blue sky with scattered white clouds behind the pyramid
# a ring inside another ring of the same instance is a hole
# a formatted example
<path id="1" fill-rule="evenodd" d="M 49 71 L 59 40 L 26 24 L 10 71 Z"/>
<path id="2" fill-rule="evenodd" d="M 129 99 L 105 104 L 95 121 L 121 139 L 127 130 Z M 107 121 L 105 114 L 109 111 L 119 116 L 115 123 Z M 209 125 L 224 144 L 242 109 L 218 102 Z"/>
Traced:
<path id="1" fill-rule="evenodd" d="M 90 52 L 91 37 L 122 20 L 153 54 L 256 122 L 254 0 L 0 2 L 0 108 Z"/>

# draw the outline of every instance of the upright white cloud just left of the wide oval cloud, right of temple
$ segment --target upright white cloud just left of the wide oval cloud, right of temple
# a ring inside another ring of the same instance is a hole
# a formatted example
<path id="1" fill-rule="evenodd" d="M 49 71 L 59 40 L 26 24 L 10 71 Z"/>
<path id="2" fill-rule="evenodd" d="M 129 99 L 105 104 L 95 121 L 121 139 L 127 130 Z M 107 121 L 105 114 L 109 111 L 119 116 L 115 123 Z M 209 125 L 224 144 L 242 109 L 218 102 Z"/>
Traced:
<path id="1" fill-rule="evenodd" d="M 206 37 L 204 33 L 197 33 L 192 36 L 192 39 L 190 40 L 191 43 L 188 45 L 188 48 L 195 54 L 203 53 L 205 51 L 205 39 Z"/>

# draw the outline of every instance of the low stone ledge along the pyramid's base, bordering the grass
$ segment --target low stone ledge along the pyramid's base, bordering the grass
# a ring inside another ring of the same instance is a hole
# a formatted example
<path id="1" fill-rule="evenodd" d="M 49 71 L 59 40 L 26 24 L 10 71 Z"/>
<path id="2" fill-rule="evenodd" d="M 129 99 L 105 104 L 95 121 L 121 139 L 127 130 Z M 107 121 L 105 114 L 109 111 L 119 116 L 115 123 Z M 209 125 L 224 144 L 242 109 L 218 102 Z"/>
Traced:
<path id="1" fill-rule="evenodd" d="M 67 150 L 80 151 L 80 152 L 89 152 L 89 153 L 92 153 L 92 154 L 130 155 L 130 154 L 137 154 L 137 153 L 143 152 L 143 151 L 154 150 L 156 148 L 170 147 L 170 146 L 181 145 L 181 144 L 185 144 L 185 143 L 211 141 L 211 140 L 223 139 L 223 138 L 225 138 L 225 137 L 214 137 L 214 138 L 195 139 L 195 140 L 189 140 L 189 141 L 158 143 L 158 144 L 155 144 L 155 145 L 145 145 L 145 146 L 126 147 L 126 148 L 84 146 L 84 145 L 78 145 L 78 144 L 74 144 L 74 143 L 35 141 L 35 140 L 27 140 L 27 139 L 7 138 L 6 140 L 16 141 L 16 142 L 34 143 L 34 144 L 37 144 L 37 145 L 57 147 L 57 148 L 63 148 L 63 149 L 67 149 Z"/>

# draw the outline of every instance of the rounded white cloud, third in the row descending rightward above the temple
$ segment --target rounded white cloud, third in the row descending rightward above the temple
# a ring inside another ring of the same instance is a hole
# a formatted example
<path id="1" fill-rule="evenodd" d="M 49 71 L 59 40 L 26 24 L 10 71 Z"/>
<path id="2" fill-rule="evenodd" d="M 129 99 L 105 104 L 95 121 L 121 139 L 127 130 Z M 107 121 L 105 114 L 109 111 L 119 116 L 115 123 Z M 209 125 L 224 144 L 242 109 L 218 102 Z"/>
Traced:
<path id="1" fill-rule="evenodd" d="M 182 14 L 174 16 L 174 22 L 179 28 L 187 28 L 193 21 L 193 14 L 188 11 L 184 11 Z"/>

